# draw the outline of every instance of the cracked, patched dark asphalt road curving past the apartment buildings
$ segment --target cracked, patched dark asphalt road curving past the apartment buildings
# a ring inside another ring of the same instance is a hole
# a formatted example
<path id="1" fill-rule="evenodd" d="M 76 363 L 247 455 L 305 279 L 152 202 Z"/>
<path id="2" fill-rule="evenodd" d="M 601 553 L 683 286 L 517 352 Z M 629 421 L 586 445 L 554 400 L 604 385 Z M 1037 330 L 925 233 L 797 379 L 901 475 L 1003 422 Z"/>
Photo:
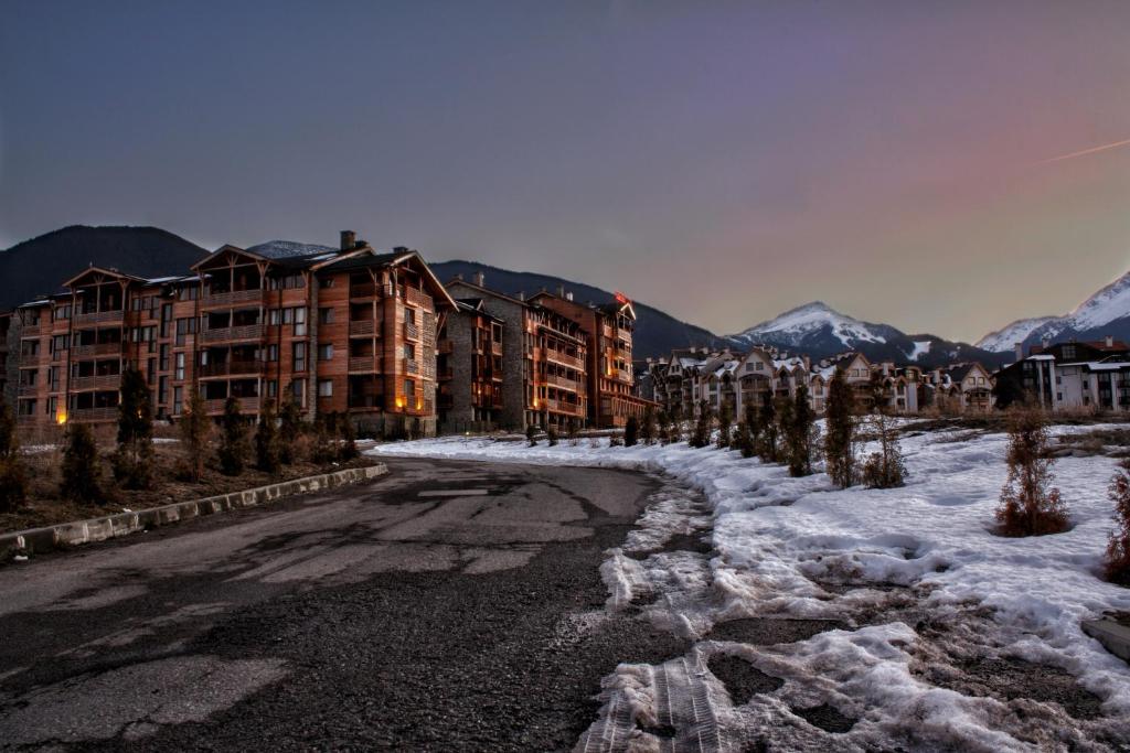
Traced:
<path id="1" fill-rule="evenodd" d="M 0 568 L 0 746 L 568 750 L 617 663 L 686 650 L 602 608 L 653 479 L 388 463 Z"/>

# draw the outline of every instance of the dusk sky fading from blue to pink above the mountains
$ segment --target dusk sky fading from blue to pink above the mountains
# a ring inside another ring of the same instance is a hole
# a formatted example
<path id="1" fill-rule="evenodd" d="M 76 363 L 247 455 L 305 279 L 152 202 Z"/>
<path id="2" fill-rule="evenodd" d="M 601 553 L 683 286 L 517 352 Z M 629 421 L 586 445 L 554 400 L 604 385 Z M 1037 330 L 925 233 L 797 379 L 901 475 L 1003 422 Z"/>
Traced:
<path id="1" fill-rule="evenodd" d="M 354 229 L 972 341 L 1130 269 L 1128 40 L 1124 0 L 0 0 L 0 247 Z"/>

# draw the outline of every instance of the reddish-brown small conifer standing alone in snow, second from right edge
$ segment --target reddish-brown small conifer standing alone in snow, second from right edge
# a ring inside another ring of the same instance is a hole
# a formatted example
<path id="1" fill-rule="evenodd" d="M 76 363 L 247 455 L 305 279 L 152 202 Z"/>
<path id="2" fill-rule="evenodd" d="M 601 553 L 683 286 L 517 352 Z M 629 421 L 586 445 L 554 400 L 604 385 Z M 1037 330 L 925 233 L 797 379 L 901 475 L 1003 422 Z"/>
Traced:
<path id="1" fill-rule="evenodd" d="M 1038 408 L 1015 408 L 1008 422 L 1008 481 L 997 522 L 1006 536 L 1038 536 L 1068 528 L 1068 511 L 1052 488 L 1048 420 Z"/>

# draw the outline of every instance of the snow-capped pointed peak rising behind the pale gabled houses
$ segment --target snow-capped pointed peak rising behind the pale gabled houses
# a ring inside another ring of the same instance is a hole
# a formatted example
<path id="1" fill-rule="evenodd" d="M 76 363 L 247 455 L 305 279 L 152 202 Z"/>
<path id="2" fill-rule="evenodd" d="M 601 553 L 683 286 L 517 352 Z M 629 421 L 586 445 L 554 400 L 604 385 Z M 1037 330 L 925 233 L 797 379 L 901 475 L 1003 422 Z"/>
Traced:
<path id="1" fill-rule="evenodd" d="M 875 324 L 841 314 L 823 301 L 790 309 L 729 338 L 739 348 L 755 344 L 808 353 L 816 358 L 845 350 L 861 351 L 871 360 L 937 366 L 980 360 L 996 366 L 1001 358 L 967 343 L 932 334 L 907 335 L 889 324 Z"/>

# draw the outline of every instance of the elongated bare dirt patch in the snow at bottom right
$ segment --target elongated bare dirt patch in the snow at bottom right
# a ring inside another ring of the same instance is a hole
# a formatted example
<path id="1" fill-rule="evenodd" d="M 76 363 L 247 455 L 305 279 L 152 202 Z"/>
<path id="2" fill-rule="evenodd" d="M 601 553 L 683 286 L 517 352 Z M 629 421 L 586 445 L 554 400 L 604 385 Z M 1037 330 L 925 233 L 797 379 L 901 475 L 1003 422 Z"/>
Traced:
<path id="1" fill-rule="evenodd" d="M 1055 703 L 1076 719 L 1095 719 L 1103 713 L 1098 697 L 1086 691 L 1067 672 L 1022 659 L 973 658 L 951 667 L 929 665 L 925 678 L 963 695 L 996 698 L 999 701 L 1031 699 Z"/>

